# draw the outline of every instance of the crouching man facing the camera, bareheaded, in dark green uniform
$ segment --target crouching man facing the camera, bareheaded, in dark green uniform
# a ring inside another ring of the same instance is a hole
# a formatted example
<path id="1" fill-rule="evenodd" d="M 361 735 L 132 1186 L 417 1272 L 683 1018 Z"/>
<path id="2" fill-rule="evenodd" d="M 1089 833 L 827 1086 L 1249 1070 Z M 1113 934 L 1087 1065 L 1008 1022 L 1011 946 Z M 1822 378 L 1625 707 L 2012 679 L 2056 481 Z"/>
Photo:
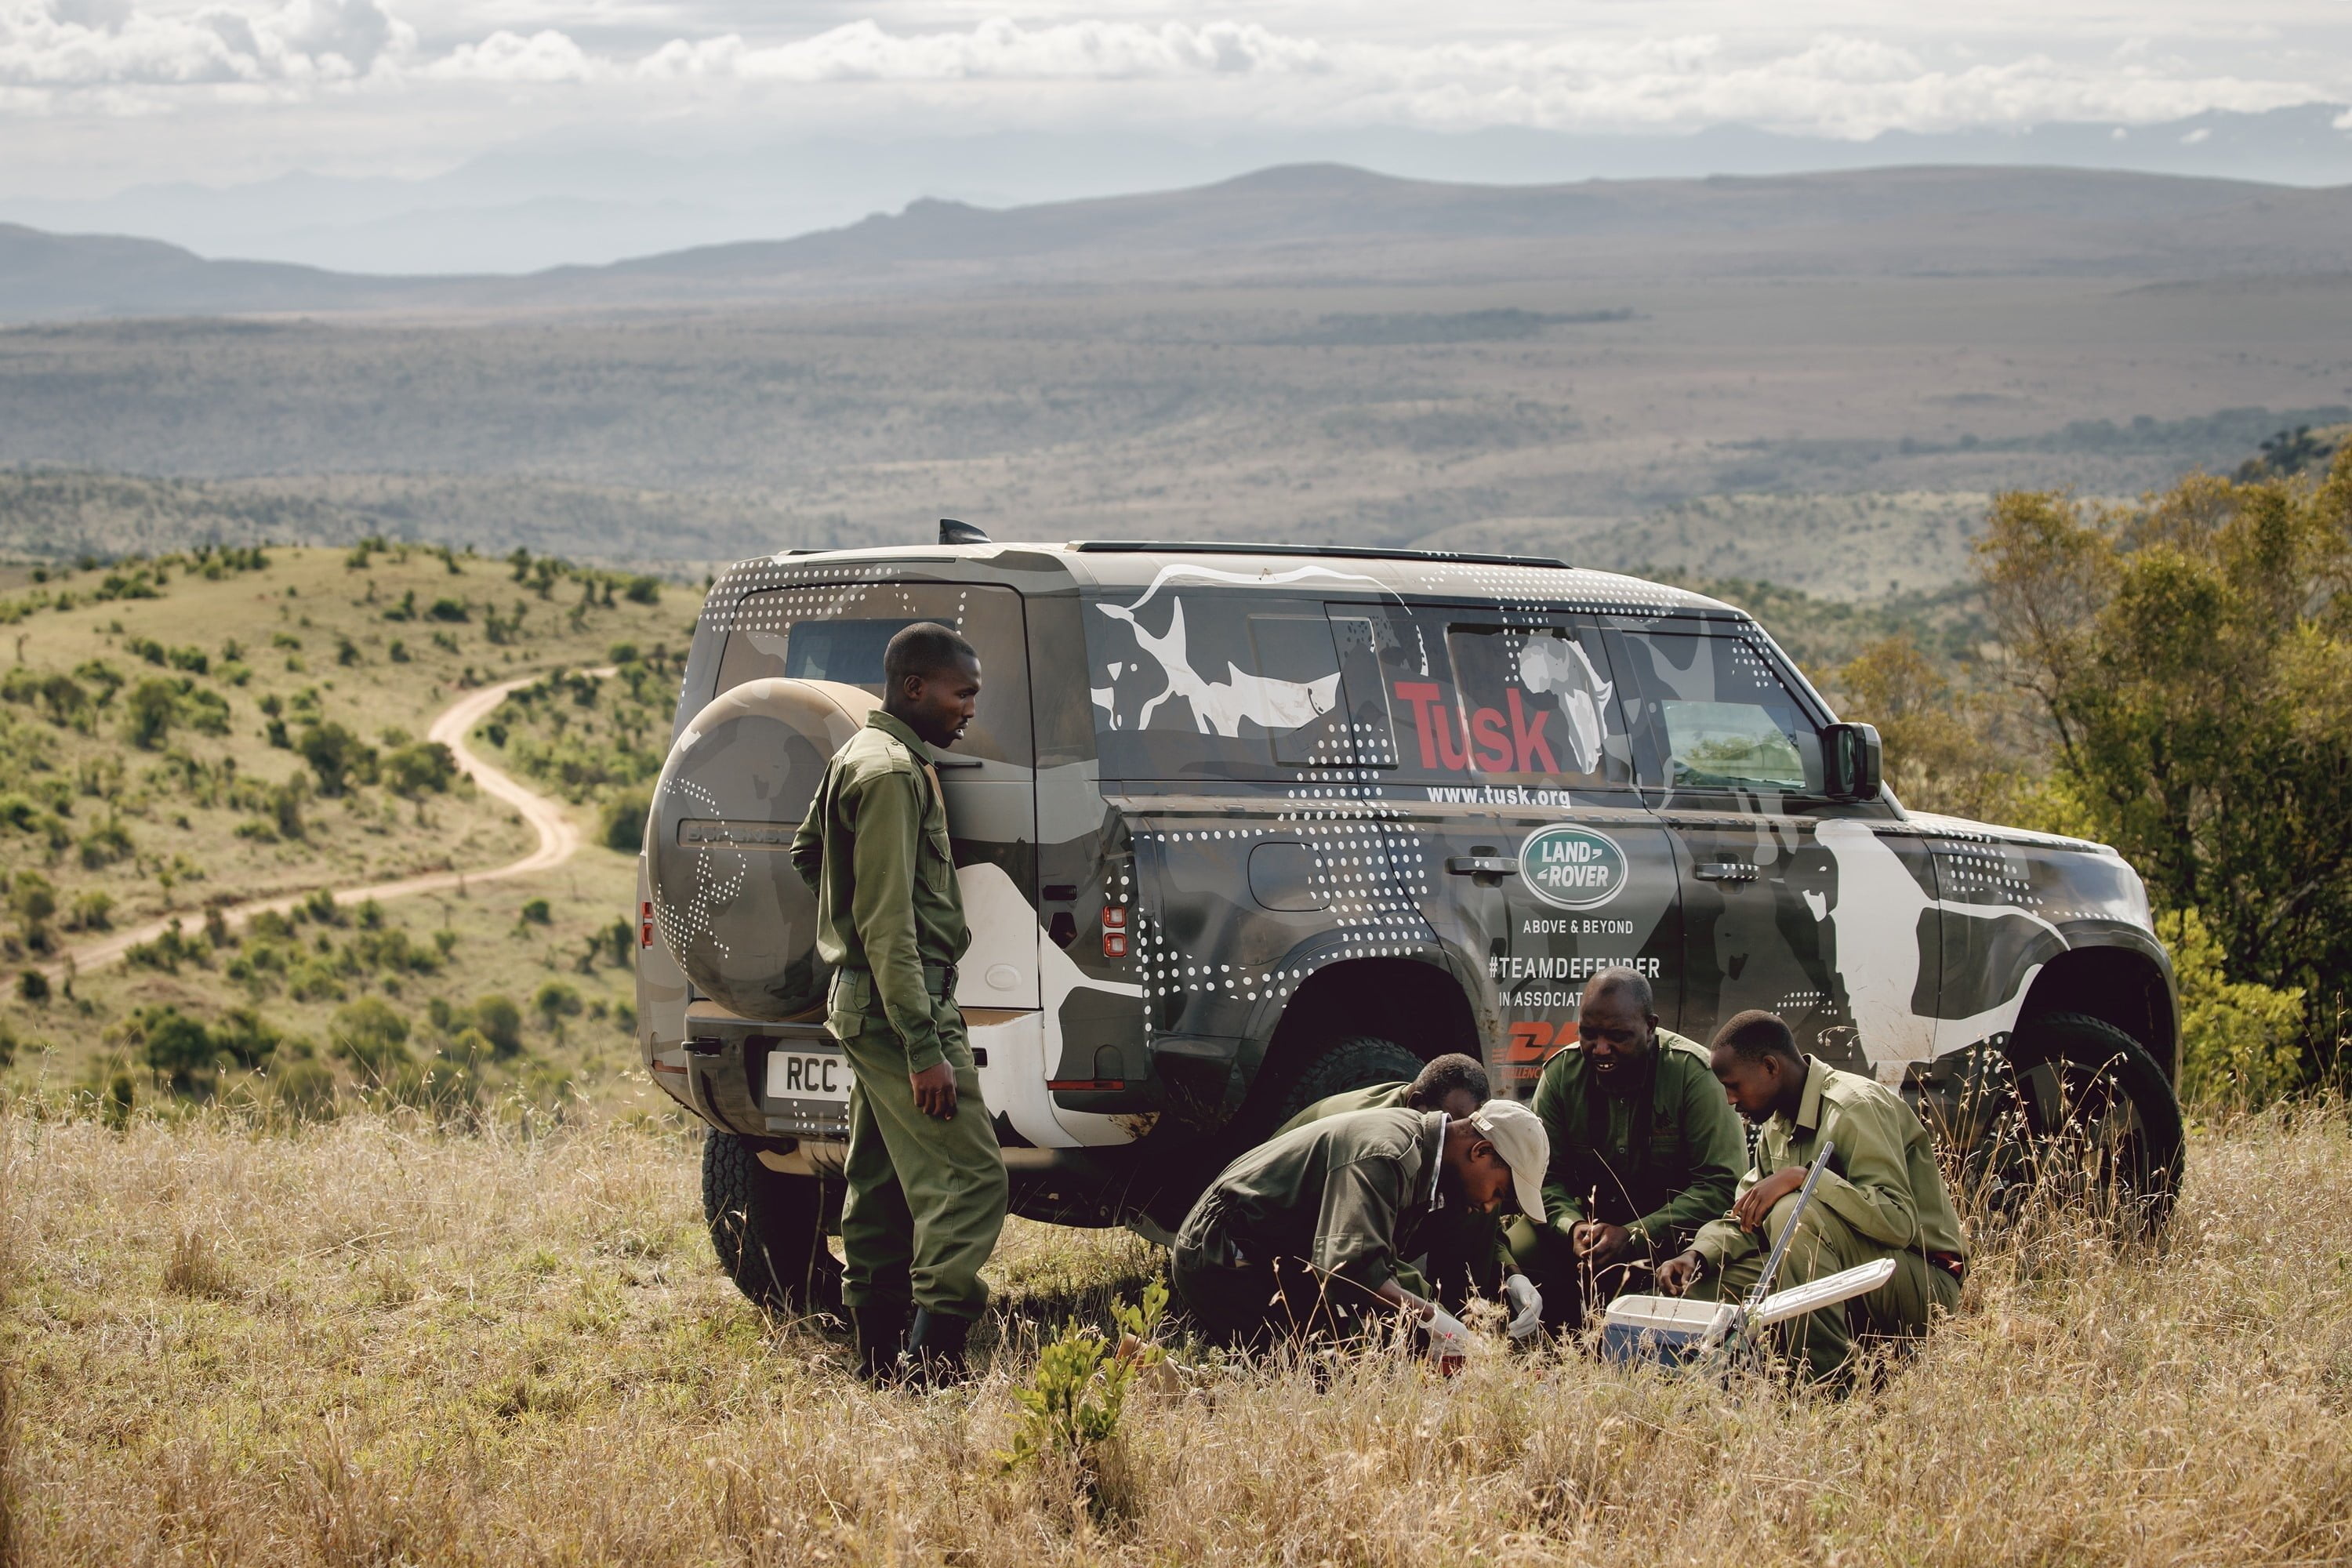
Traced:
<path id="1" fill-rule="evenodd" d="M 1658 1027 L 1649 980 L 1632 969 L 1604 969 L 1585 985 L 1576 1048 L 1543 1065 L 1536 1114 L 1552 1140 L 1548 1222 L 1515 1220 L 1508 1241 L 1552 1326 L 1573 1328 L 1625 1288 L 1632 1267 L 1689 1246 L 1731 1206 L 1748 1166 L 1705 1046 Z"/>

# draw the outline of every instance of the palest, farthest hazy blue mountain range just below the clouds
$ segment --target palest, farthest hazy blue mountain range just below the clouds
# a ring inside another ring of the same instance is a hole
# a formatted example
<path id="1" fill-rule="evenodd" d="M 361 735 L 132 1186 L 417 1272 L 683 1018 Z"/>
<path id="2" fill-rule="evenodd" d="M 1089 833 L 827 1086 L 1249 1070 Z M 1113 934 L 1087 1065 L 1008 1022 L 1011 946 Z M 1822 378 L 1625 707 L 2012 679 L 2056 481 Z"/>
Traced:
<path id="1" fill-rule="evenodd" d="M 750 146 L 597 146 L 569 134 L 508 146 L 430 179 L 287 174 L 226 188 L 141 186 L 75 200 L 0 195 L 0 223 L 139 235 L 202 256 L 348 273 L 532 273 L 840 228 L 922 197 L 1033 207 L 1209 186 L 1251 169 L 1305 162 L 1482 186 L 1912 165 L 2343 186 L 2352 183 L 2352 115 L 2340 103 L 2305 103 L 2164 125 L 2039 125 L 1931 136 L 1886 132 L 1865 141 L 1783 136 L 1738 125 L 1661 136 L 1371 127 L 1221 141 L 1000 132 L 896 143 L 818 139 Z"/>

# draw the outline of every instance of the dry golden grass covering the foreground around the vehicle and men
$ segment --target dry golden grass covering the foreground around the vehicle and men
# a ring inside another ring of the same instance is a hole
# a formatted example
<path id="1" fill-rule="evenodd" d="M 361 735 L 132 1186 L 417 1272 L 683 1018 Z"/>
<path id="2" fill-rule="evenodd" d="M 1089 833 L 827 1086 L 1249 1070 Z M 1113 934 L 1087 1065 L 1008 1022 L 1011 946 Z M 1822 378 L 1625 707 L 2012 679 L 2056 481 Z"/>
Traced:
<path id="1" fill-rule="evenodd" d="M 2206 1128 L 2161 1253 L 2051 1227 L 1849 1401 L 1494 1354 L 1204 1371 L 1108 1516 L 1004 1474 L 1014 1335 L 875 1394 L 717 1276 L 689 1138 L 5 1121 L 0 1561 L 2246 1563 L 2352 1556 L 2352 1131 Z M 1009 1302 L 1143 1244 L 1016 1225 Z"/>

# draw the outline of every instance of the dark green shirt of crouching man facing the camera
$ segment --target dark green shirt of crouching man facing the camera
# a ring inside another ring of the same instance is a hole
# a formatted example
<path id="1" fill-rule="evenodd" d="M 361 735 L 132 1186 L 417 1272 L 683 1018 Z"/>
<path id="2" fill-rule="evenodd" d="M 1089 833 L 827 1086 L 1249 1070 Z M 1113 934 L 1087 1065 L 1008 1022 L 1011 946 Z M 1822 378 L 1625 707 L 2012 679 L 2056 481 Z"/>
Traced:
<path id="1" fill-rule="evenodd" d="M 1672 1248 L 1731 1206 L 1748 1140 L 1705 1046 L 1658 1030 L 1646 1067 L 1625 1093 L 1606 1093 L 1576 1046 L 1543 1065 L 1534 1103 L 1552 1138 L 1543 1211 L 1562 1232 L 1609 1220 Z M 1588 1215 L 1595 1192 L 1599 1213 Z"/>

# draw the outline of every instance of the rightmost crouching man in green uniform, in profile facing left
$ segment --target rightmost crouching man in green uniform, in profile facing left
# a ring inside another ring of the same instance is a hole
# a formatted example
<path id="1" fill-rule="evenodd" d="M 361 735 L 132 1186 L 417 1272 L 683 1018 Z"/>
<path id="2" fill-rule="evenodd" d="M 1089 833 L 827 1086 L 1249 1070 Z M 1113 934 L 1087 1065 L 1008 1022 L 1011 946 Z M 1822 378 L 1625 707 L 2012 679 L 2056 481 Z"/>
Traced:
<path id="1" fill-rule="evenodd" d="M 1853 1328 L 1915 1338 L 1938 1312 L 1959 1309 L 1969 1244 L 1943 1187 L 1936 1150 L 1903 1095 L 1856 1072 L 1799 1056 L 1773 1013 L 1740 1013 L 1715 1032 L 1715 1077 L 1740 1117 L 1757 1124 L 1757 1157 L 1731 1213 L 1698 1232 L 1658 1269 L 1658 1288 L 1710 1286 L 1738 1300 L 1764 1272 L 1764 1253 L 1788 1229 L 1797 1190 L 1823 1138 L 1837 1145 L 1797 1225 L 1773 1288 L 1802 1286 L 1879 1258 L 1896 1274 L 1844 1307 L 1790 1321 L 1816 1378 L 1839 1378 Z"/>

